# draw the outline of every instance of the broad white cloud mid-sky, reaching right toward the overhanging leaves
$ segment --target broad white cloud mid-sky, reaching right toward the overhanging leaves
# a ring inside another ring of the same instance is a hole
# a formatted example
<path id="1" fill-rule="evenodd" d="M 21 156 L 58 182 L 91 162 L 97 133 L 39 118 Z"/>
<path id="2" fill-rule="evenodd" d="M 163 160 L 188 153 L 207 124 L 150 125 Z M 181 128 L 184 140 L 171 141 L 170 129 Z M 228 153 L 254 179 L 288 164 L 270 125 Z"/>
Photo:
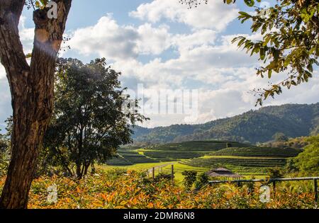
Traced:
<path id="1" fill-rule="evenodd" d="M 209 42 L 214 42 L 214 33 L 206 30 L 191 35 L 174 35 L 172 45 L 179 49 L 178 58 L 165 62 L 157 58 L 146 64 L 135 59 L 119 60 L 113 64 L 113 67 L 120 69 L 125 78 L 134 77 L 147 86 L 161 87 L 182 87 L 186 79 L 202 81 L 203 85 L 220 86 L 227 81 L 241 79 L 244 74 L 236 72 L 242 67 L 249 67 L 245 72 L 249 70 L 248 75 L 254 75 L 254 66 L 257 67 L 259 64 L 257 58 L 250 57 L 230 45 L 226 41 L 228 37 L 223 39 L 225 41 L 222 45 L 209 45 Z"/>

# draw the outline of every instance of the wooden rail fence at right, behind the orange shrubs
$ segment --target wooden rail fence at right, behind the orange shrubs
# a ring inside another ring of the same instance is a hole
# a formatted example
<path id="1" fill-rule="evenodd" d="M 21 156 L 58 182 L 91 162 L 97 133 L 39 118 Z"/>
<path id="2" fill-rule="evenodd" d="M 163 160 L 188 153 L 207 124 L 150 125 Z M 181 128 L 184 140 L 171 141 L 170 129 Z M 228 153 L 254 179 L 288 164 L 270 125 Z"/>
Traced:
<path id="1" fill-rule="evenodd" d="M 272 183 L 274 189 L 274 195 L 276 195 L 276 182 L 281 181 L 313 181 L 313 190 L 315 193 L 315 202 L 318 202 L 318 180 L 319 177 L 301 177 L 301 178 L 266 178 L 266 179 L 252 179 L 252 180 L 235 180 L 235 181 L 209 181 L 210 184 L 215 183 L 237 183 L 240 185 L 241 183 Z"/>

